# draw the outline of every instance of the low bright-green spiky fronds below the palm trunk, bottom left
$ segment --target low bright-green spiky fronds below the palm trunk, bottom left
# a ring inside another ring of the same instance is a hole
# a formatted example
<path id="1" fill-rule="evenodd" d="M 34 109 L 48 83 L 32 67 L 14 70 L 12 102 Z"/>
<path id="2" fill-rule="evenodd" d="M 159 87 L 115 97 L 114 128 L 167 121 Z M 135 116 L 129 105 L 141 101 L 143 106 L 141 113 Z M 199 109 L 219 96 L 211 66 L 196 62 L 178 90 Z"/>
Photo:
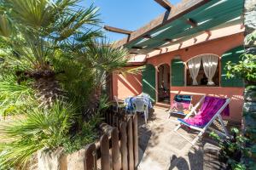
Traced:
<path id="1" fill-rule="evenodd" d="M 64 145 L 63 138 L 74 123 L 74 111 L 72 105 L 55 102 L 49 110 L 33 108 L 16 121 L 1 123 L 0 167 L 26 165 L 37 150 Z"/>

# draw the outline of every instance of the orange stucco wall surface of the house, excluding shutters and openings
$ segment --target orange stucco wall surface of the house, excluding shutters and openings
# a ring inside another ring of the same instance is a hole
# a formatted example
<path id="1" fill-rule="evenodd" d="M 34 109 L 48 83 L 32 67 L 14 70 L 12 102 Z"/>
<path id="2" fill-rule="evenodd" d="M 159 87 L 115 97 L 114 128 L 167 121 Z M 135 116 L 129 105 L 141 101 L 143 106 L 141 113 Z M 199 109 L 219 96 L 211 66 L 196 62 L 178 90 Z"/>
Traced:
<path id="1" fill-rule="evenodd" d="M 179 56 L 183 62 L 195 57 L 199 54 L 217 54 L 221 56 L 231 48 L 236 48 L 243 43 L 243 33 L 237 33 L 229 37 L 220 37 L 216 40 L 202 42 L 200 44 L 192 45 L 189 48 L 181 48 L 175 51 L 159 54 L 148 58 L 146 63 L 154 66 L 162 64 L 171 64 L 172 59 Z M 172 73 L 171 73 L 172 74 Z M 155 75 L 152 75 L 155 77 Z M 137 95 L 142 93 L 142 75 L 123 77 L 121 75 L 113 75 L 113 95 L 124 99 L 127 96 Z M 156 88 L 157 89 L 157 88 Z M 235 122 L 241 122 L 241 108 L 243 104 L 244 88 L 223 88 L 223 87 L 170 87 L 171 99 L 175 94 L 193 94 L 193 103 L 196 103 L 202 95 L 213 95 L 219 97 L 231 98 L 230 119 Z"/>

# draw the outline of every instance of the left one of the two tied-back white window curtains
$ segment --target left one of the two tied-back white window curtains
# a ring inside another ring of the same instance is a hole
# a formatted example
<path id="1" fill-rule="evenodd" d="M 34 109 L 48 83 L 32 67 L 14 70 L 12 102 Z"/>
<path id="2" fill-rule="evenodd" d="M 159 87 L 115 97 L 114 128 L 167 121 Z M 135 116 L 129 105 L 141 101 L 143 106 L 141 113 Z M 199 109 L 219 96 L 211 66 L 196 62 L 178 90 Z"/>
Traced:
<path id="1" fill-rule="evenodd" d="M 200 66 L 201 66 L 201 56 L 190 59 L 188 61 L 188 66 L 189 66 L 190 76 L 193 79 L 192 84 L 193 85 L 198 85 L 198 83 L 196 81 L 196 77 L 198 76 L 198 71 L 199 71 Z"/>

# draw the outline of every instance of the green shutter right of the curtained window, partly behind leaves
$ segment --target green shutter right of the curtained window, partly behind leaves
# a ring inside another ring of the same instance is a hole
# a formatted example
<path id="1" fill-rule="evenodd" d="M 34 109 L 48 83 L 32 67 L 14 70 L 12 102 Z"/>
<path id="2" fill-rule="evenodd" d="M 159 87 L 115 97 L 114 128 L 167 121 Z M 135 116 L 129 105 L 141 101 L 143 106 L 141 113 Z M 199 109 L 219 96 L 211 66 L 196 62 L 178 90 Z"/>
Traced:
<path id="1" fill-rule="evenodd" d="M 241 54 L 244 53 L 242 46 L 230 49 L 221 57 L 221 86 L 222 87 L 243 87 L 244 82 L 241 77 L 227 77 L 227 62 L 239 63 Z"/>

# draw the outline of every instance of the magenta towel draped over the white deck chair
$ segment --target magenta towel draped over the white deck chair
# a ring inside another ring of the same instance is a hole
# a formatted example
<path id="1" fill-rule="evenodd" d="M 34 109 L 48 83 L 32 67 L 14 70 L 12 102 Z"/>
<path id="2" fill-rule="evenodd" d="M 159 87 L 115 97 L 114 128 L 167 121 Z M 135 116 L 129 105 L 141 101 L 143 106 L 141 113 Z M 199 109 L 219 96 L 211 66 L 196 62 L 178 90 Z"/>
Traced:
<path id="1" fill-rule="evenodd" d="M 183 119 L 181 122 L 188 123 L 195 127 L 204 127 L 207 122 L 210 122 L 212 117 L 218 112 L 218 110 L 224 105 L 226 99 L 207 96 L 201 106 L 201 110 L 194 117 Z M 230 116 L 230 107 L 226 106 L 222 112 L 223 116 Z"/>

